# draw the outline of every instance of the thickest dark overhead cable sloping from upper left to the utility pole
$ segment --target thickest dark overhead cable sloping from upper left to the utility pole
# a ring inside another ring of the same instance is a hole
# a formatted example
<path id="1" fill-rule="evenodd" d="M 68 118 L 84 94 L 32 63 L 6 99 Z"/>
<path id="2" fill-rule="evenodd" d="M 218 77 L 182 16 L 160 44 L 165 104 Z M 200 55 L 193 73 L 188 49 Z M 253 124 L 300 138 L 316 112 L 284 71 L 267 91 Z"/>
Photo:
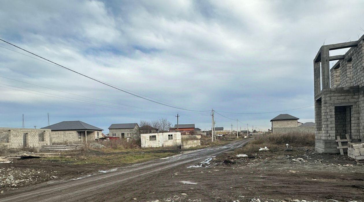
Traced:
<path id="1" fill-rule="evenodd" d="M 119 91 L 122 91 L 122 92 L 126 92 L 127 94 L 130 94 L 130 95 L 134 95 L 134 96 L 136 96 L 136 97 L 138 97 L 138 98 L 142 98 L 142 99 L 148 100 L 148 101 L 150 101 L 150 102 L 154 102 L 154 103 L 157 103 L 157 104 L 161 104 L 161 105 L 164 105 L 164 106 L 167 106 L 167 107 L 177 108 L 177 109 L 180 109 L 180 110 L 186 110 L 186 111 L 198 111 L 198 112 L 210 111 L 210 110 L 205 110 L 205 111 L 201 111 L 201 110 L 189 110 L 189 109 L 185 109 L 185 108 L 181 108 L 181 107 L 174 107 L 174 106 L 171 106 L 171 105 L 169 105 L 169 104 L 163 104 L 163 103 L 161 103 L 161 102 L 156 102 L 156 101 L 151 100 L 151 99 L 148 99 L 148 98 L 144 98 L 144 97 L 142 97 L 142 96 L 139 96 L 139 95 L 133 94 L 133 93 L 131 93 L 131 92 L 128 92 L 128 91 L 122 90 L 121 88 L 118 88 L 118 87 L 112 86 L 112 85 L 107 84 L 107 83 L 105 83 L 105 82 L 102 82 L 102 81 L 100 81 L 100 80 L 94 79 L 94 78 L 92 78 L 92 77 L 90 77 L 90 76 L 87 76 L 87 75 L 85 75 L 85 74 L 79 73 L 79 72 L 77 72 L 77 71 L 75 71 L 75 70 L 72 70 L 72 69 L 70 69 L 70 68 L 64 67 L 64 66 L 62 66 L 62 65 L 60 65 L 60 64 L 58 64 L 58 63 L 52 62 L 51 60 L 48 60 L 48 59 L 46 59 L 46 58 L 43 58 L 43 57 L 41 57 L 41 56 L 39 56 L 39 55 L 36 55 L 36 54 L 34 54 L 34 53 L 30 52 L 30 51 L 27 51 L 27 50 L 25 50 L 25 49 L 23 49 L 23 48 L 20 48 L 20 47 L 19 47 L 19 46 L 17 46 L 17 45 L 14 45 L 14 44 L 12 44 L 12 43 L 9 43 L 8 41 L 5 41 L 5 40 L 3 40 L 3 39 L 0 39 L 0 40 L 1 40 L 1 41 L 4 41 L 4 42 L 5 42 L 5 43 L 7 43 L 7 44 L 10 44 L 10 45 L 12 45 L 12 46 L 14 46 L 14 47 L 16 47 L 16 48 L 19 48 L 19 49 L 21 49 L 21 50 L 23 50 L 23 51 L 25 51 L 25 52 L 28 52 L 28 53 L 30 53 L 30 54 L 32 54 L 32 55 L 35 55 L 35 56 L 37 56 L 37 57 L 39 57 L 39 58 L 41 58 L 41 59 L 44 59 L 44 60 L 47 60 L 48 62 L 51 62 L 51 63 L 53 63 L 53 64 L 56 64 L 56 65 L 58 65 L 59 67 L 65 68 L 66 70 L 69 70 L 69 71 L 74 72 L 74 73 L 76 73 L 76 74 L 82 75 L 82 76 L 84 76 L 84 77 L 86 77 L 86 78 L 88 78 L 88 79 L 94 80 L 94 81 L 96 81 L 96 82 L 99 82 L 99 83 L 104 84 L 104 85 L 106 85 L 106 86 L 109 86 L 109 87 L 111 87 L 111 88 L 115 88 L 116 90 L 119 90 Z"/>

